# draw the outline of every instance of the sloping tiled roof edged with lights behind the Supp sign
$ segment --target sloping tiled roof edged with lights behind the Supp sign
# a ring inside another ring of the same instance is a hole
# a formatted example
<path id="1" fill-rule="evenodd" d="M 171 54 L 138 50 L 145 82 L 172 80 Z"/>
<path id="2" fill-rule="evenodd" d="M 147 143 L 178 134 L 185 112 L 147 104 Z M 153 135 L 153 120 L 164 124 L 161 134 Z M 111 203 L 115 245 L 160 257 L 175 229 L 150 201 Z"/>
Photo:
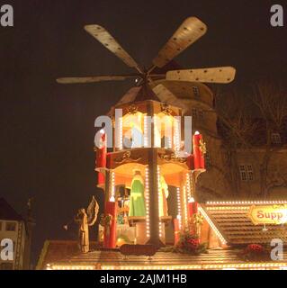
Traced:
<path id="1" fill-rule="evenodd" d="M 207 202 L 202 204 L 202 214 L 217 234 L 231 246 L 270 244 L 274 238 L 287 243 L 286 225 L 254 225 L 247 216 L 253 204 L 279 204 L 282 202 Z"/>

